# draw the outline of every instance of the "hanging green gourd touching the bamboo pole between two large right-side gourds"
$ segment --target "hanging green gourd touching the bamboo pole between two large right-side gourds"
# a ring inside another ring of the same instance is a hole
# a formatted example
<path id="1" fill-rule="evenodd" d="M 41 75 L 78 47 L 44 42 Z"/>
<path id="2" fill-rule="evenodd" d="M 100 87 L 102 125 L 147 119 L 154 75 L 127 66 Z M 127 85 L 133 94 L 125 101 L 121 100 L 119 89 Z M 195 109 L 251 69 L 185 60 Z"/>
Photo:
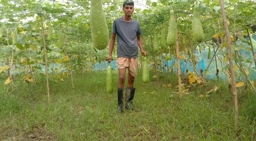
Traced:
<path id="1" fill-rule="evenodd" d="M 176 44 L 176 22 L 174 19 L 174 12 L 173 10 L 170 11 L 170 20 L 169 20 L 169 27 L 168 27 L 168 35 L 167 35 L 167 45 L 173 46 Z"/>

